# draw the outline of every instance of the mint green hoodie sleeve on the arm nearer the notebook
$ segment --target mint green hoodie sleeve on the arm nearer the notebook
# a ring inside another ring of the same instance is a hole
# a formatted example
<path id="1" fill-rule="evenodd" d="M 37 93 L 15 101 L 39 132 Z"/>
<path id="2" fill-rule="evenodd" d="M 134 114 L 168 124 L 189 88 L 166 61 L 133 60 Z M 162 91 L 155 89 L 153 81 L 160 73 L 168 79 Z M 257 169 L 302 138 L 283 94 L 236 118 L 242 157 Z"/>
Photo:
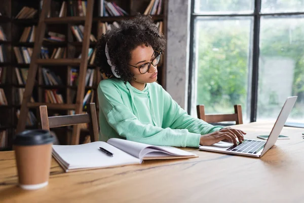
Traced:
<path id="1" fill-rule="evenodd" d="M 151 124 L 142 124 L 124 105 L 119 90 L 114 85 L 98 87 L 100 110 L 108 124 L 119 136 L 130 141 L 151 145 L 175 147 L 198 147 L 200 133 L 192 133 L 187 129 L 162 128 Z M 102 127 L 102 126 L 101 126 Z"/>

